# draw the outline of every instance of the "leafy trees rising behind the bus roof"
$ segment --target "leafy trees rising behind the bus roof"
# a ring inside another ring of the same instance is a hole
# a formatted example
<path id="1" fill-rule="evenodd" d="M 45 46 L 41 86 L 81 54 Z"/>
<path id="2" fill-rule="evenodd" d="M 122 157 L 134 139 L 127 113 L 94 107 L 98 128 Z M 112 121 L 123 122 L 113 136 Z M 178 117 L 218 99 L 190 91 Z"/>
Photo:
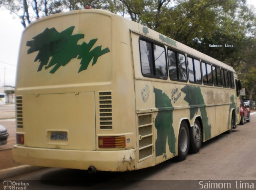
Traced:
<path id="1" fill-rule="evenodd" d="M 0 6 L 20 18 L 24 27 L 36 18 L 87 6 L 129 16 L 229 64 L 253 89 L 246 81 L 252 81 L 255 67 L 256 16 L 246 0 L 0 0 Z M 233 47 L 213 49 L 209 44 Z"/>

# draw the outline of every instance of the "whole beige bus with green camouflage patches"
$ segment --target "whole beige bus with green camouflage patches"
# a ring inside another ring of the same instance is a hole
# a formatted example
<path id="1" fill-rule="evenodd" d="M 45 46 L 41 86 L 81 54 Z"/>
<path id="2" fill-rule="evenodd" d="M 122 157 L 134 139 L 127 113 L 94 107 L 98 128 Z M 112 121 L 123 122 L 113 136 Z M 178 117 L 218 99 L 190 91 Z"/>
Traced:
<path id="1" fill-rule="evenodd" d="M 240 122 L 234 69 L 105 10 L 31 23 L 16 81 L 16 163 L 137 170 Z"/>

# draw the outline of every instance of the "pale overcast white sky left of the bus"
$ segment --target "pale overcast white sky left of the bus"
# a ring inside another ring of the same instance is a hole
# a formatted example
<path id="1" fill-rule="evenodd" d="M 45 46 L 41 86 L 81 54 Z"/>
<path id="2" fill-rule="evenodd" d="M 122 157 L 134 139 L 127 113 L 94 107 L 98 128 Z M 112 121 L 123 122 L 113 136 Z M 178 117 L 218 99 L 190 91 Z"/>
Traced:
<path id="1" fill-rule="evenodd" d="M 256 0 L 247 0 L 256 7 Z M 0 86 L 15 86 L 20 38 L 24 29 L 19 19 L 0 8 Z M 5 73 L 5 74 L 4 74 Z"/>

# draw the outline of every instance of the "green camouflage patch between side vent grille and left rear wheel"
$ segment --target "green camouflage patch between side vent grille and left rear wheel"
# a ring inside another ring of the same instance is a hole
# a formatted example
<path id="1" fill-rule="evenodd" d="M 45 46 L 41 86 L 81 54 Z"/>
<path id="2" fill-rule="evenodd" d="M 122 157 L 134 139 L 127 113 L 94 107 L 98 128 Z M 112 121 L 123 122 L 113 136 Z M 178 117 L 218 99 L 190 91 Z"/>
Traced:
<path id="1" fill-rule="evenodd" d="M 156 108 L 170 108 L 172 103 L 167 94 L 163 93 L 154 87 L 154 93 L 156 98 Z M 155 119 L 155 127 L 157 129 L 156 139 L 156 156 L 166 154 L 166 140 L 168 142 L 169 150 L 175 155 L 175 143 L 176 138 L 174 129 L 172 126 L 172 110 L 158 110 L 158 114 Z"/>

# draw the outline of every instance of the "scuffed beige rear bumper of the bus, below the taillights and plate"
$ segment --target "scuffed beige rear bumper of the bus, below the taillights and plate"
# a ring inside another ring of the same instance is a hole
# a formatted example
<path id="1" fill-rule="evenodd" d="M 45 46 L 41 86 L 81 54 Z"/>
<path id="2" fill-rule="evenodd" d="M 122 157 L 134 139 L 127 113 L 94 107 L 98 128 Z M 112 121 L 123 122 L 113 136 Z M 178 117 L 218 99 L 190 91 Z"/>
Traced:
<path id="1" fill-rule="evenodd" d="M 99 171 L 135 170 L 135 149 L 130 150 L 63 150 L 31 148 L 14 145 L 15 163 L 32 166 L 74 168 L 87 170 L 94 166 Z"/>

